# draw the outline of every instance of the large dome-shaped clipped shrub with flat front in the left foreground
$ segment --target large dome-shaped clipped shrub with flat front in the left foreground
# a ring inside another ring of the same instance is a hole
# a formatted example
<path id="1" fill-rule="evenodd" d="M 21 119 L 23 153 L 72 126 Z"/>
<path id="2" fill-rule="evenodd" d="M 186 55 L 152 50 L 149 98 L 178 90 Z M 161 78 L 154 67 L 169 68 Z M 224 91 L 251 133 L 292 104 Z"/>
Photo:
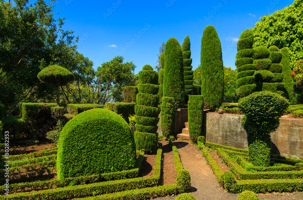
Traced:
<path id="1" fill-rule="evenodd" d="M 58 179 L 132 169 L 135 148 L 134 135 L 121 116 L 103 108 L 84 111 L 60 133 Z"/>

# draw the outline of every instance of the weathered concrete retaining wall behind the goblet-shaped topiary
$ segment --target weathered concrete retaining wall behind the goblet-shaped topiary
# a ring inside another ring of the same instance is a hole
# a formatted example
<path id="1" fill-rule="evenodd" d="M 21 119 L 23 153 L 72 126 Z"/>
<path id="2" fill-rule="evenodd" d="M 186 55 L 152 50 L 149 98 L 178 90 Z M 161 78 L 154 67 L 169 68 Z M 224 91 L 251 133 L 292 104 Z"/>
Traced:
<path id="1" fill-rule="evenodd" d="M 243 115 L 205 112 L 202 135 L 206 142 L 246 149 L 247 135 L 241 125 Z M 303 158 L 303 120 L 280 118 L 280 126 L 271 134 L 272 153 Z"/>

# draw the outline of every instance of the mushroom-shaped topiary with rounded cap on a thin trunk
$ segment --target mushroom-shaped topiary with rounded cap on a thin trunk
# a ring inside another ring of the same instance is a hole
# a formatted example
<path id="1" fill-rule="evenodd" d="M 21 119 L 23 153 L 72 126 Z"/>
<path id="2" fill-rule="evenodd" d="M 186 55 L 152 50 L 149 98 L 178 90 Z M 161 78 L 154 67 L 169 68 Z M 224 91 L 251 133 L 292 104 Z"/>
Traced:
<path id="1" fill-rule="evenodd" d="M 68 84 L 75 79 L 75 76 L 67 69 L 58 66 L 48 66 L 38 73 L 38 79 L 50 85 L 55 85 L 57 88 L 57 104 L 60 106 L 59 101 L 59 87 Z"/>

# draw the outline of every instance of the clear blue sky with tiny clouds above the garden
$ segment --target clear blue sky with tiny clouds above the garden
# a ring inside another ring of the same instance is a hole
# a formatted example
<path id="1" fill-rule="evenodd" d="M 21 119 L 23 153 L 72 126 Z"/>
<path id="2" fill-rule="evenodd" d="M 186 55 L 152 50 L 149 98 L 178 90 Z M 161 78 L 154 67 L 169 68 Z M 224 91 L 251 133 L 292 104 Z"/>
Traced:
<path id="1" fill-rule="evenodd" d="M 242 31 L 259 18 L 291 5 L 293 0 L 185 1 L 185 0 L 58 0 L 57 17 L 65 17 L 64 30 L 79 36 L 78 52 L 97 69 L 118 54 L 133 61 L 135 74 L 145 64 L 155 67 L 162 41 L 191 40 L 193 69 L 200 64 L 203 30 L 213 25 L 221 41 L 223 64 L 235 67 L 236 42 Z"/>

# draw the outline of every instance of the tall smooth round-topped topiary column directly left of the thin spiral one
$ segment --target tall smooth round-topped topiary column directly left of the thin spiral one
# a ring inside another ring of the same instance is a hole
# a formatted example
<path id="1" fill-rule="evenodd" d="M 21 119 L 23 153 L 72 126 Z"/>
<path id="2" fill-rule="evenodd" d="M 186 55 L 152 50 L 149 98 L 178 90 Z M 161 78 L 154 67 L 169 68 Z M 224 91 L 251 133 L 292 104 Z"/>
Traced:
<path id="1" fill-rule="evenodd" d="M 184 105 L 184 75 L 182 49 L 178 40 L 170 38 L 165 44 L 163 97 L 175 99 L 174 109 Z"/>

